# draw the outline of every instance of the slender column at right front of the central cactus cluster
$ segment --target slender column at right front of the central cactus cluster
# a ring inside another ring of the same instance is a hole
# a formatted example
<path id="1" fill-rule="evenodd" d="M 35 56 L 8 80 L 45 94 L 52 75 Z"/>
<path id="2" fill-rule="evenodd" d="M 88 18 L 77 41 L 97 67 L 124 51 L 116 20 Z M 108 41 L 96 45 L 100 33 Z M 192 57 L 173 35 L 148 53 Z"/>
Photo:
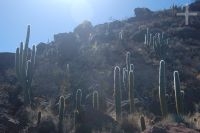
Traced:
<path id="1" fill-rule="evenodd" d="M 134 112 L 134 70 L 129 71 L 128 86 L 129 86 L 129 102 L 130 113 Z"/>

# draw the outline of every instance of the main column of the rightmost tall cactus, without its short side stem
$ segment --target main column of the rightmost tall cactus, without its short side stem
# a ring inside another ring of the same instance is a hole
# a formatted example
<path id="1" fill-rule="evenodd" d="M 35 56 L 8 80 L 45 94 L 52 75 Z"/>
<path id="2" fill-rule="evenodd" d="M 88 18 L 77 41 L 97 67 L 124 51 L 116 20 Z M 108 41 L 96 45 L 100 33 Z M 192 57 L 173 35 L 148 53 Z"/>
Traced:
<path id="1" fill-rule="evenodd" d="M 178 71 L 174 71 L 174 91 L 175 91 L 175 101 L 176 101 L 176 112 L 178 115 L 183 113 L 181 89 L 180 89 L 180 79 Z"/>

